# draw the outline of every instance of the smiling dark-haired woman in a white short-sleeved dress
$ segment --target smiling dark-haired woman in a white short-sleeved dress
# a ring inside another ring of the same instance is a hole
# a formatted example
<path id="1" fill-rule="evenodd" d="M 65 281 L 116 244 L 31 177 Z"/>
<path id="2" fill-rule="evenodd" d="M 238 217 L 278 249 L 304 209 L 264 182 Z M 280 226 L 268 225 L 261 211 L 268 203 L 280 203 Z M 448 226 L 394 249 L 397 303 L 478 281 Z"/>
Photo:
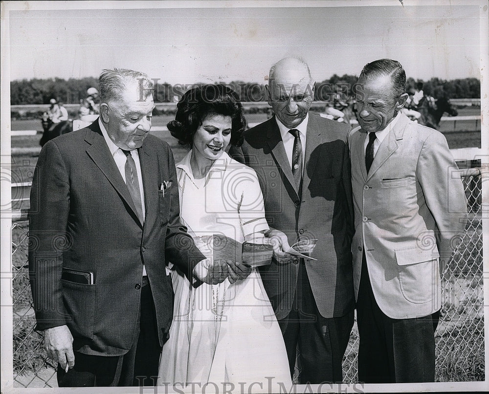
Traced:
<path id="1" fill-rule="evenodd" d="M 187 91 L 168 124 L 179 143 L 191 147 L 177 164 L 180 219 L 210 261 L 209 236 L 244 242 L 268 230 L 255 172 L 225 152 L 229 144 L 242 143 L 245 126 L 236 93 L 223 85 Z M 228 262 L 223 275 L 221 284 L 195 288 L 172 268 L 174 320 L 158 384 L 194 391 L 211 383 L 246 392 L 289 388 L 282 333 L 258 271 Z"/>

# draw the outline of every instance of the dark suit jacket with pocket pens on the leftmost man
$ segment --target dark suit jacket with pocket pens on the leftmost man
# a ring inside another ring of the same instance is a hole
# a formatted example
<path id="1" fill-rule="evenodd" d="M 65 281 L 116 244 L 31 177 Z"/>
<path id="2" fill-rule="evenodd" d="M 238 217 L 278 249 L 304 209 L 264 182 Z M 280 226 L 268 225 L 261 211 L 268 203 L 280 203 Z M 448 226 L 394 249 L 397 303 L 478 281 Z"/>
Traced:
<path id="1" fill-rule="evenodd" d="M 173 316 L 165 266 L 171 261 L 189 274 L 204 258 L 178 219 L 176 169 L 168 144 L 148 135 L 138 153 L 144 225 L 98 120 L 49 141 L 34 172 L 29 274 L 37 329 L 66 324 L 73 348 L 84 353 L 121 355 L 133 345 L 143 263 L 163 344 Z M 163 194 L 159 186 L 168 180 L 172 186 Z M 62 267 L 93 272 L 94 284 L 62 280 Z"/>

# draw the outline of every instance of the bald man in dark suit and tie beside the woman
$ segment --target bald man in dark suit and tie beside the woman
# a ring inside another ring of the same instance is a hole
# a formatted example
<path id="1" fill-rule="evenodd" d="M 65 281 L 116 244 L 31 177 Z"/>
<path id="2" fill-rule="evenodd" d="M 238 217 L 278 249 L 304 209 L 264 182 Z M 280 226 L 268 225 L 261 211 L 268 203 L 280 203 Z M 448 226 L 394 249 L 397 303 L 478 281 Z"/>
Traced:
<path id="1" fill-rule="evenodd" d="M 275 115 L 244 134 L 231 150 L 252 167 L 265 199 L 268 236 L 281 252 L 260 270 L 282 329 L 293 373 L 297 345 L 301 383 L 340 382 L 354 321 L 351 240 L 353 204 L 349 126 L 309 113 L 314 82 L 301 59 L 271 67 L 268 103 Z M 316 239 L 316 259 L 285 253 Z"/>

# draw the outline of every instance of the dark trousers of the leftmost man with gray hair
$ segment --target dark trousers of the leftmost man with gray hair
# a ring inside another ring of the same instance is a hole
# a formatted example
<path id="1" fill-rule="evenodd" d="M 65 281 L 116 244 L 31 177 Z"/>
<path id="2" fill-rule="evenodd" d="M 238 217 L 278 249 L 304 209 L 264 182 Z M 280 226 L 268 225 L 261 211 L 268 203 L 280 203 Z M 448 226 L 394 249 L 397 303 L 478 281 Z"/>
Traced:
<path id="1" fill-rule="evenodd" d="M 158 375 L 161 346 L 156 325 L 155 304 L 147 278 L 141 287 L 139 335 L 122 356 L 100 356 L 75 351 L 75 366 L 57 369 L 59 387 L 154 386 Z M 117 327 L 114 327 L 117 330 Z"/>

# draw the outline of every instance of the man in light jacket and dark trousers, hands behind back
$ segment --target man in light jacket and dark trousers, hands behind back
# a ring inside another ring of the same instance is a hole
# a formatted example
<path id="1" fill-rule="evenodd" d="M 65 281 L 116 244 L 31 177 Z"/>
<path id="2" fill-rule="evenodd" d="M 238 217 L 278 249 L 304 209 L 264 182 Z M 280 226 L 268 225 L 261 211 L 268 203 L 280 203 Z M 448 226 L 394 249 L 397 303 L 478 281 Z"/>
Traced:
<path id="1" fill-rule="evenodd" d="M 434 381 L 440 263 L 467 221 L 445 137 L 400 112 L 405 87 L 399 62 L 367 64 L 356 89 L 360 126 L 349 137 L 358 379 L 366 383 Z"/>

